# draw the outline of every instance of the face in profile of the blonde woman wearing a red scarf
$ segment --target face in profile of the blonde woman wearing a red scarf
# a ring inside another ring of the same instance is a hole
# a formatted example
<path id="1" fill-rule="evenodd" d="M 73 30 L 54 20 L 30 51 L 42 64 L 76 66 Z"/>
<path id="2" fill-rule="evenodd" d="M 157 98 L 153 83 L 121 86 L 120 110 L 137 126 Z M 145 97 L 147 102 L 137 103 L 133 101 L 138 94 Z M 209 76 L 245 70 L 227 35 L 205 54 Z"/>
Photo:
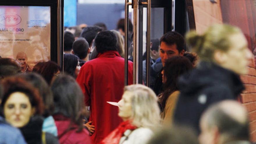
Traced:
<path id="1" fill-rule="evenodd" d="M 122 100 L 118 103 L 118 116 L 120 116 L 123 120 L 129 120 L 131 117 L 131 95 L 131 92 L 125 91 Z"/>

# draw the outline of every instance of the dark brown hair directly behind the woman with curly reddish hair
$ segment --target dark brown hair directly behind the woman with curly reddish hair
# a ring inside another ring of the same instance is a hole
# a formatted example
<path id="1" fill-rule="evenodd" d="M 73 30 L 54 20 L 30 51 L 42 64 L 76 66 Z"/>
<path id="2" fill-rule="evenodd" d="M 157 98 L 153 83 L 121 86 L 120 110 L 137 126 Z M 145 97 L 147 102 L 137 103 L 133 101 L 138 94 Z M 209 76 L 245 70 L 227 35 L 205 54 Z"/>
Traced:
<path id="1" fill-rule="evenodd" d="M 47 118 L 54 111 L 53 96 L 45 79 L 37 73 L 21 73 L 17 77 L 20 77 L 30 83 L 33 87 L 38 89 L 40 96 L 44 102 L 44 113 L 43 116 Z"/>

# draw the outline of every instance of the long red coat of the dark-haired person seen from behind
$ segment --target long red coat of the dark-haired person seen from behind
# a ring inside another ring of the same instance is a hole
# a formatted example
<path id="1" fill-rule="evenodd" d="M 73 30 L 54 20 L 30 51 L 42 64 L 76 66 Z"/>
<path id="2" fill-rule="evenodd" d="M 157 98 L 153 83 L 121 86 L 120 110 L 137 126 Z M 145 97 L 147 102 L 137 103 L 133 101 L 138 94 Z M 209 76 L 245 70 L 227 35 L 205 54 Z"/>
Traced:
<path id="1" fill-rule="evenodd" d="M 93 121 L 95 132 L 93 143 L 99 143 L 122 122 L 118 117 L 118 107 L 107 102 L 118 102 L 124 89 L 125 60 L 117 51 L 107 51 L 86 62 L 79 72 L 79 83 L 85 104 L 90 106 L 89 121 Z M 128 62 L 128 83 L 132 84 L 132 62 Z"/>

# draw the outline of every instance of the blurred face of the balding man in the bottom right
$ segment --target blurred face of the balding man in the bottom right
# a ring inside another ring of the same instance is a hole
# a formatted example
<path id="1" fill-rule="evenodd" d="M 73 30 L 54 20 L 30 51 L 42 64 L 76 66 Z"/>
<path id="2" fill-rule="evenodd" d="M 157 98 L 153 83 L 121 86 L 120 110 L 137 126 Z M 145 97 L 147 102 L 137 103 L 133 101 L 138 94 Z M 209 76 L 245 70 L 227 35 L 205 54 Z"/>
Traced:
<path id="1" fill-rule="evenodd" d="M 207 128 L 204 120 L 200 122 L 201 133 L 199 135 L 200 144 L 214 144 L 214 133 Z"/>

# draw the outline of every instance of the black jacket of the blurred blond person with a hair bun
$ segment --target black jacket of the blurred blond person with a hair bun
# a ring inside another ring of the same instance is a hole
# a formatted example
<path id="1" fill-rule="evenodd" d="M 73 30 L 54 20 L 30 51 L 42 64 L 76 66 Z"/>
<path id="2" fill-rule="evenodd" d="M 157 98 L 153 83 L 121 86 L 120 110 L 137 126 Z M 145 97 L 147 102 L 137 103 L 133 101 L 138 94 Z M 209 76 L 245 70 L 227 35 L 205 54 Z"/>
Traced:
<path id="1" fill-rule="evenodd" d="M 225 99 L 237 99 L 244 89 L 239 75 L 216 64 L 200 65 L 179 79 L 180 96 L 174 121 L 199 130 L 202 112 L 208 106 Z"/>

